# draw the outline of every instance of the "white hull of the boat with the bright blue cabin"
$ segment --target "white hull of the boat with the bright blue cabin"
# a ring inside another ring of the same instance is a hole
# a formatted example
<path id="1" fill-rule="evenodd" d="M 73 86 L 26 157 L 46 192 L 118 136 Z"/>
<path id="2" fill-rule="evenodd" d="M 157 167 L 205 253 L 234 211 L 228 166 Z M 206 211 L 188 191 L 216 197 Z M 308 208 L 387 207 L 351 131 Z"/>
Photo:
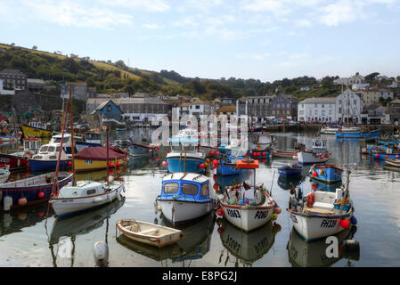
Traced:
<path id="1" fill-rule="evenodd" d="M 214 209 L 214 202 L 212 199 L 204 202 L 157 199 L 157 202 L 163 216 L 165 216 L 171 224 L 183 224 L 192 221 L 200 218 L 200 216 L 207 215 Z"/>

